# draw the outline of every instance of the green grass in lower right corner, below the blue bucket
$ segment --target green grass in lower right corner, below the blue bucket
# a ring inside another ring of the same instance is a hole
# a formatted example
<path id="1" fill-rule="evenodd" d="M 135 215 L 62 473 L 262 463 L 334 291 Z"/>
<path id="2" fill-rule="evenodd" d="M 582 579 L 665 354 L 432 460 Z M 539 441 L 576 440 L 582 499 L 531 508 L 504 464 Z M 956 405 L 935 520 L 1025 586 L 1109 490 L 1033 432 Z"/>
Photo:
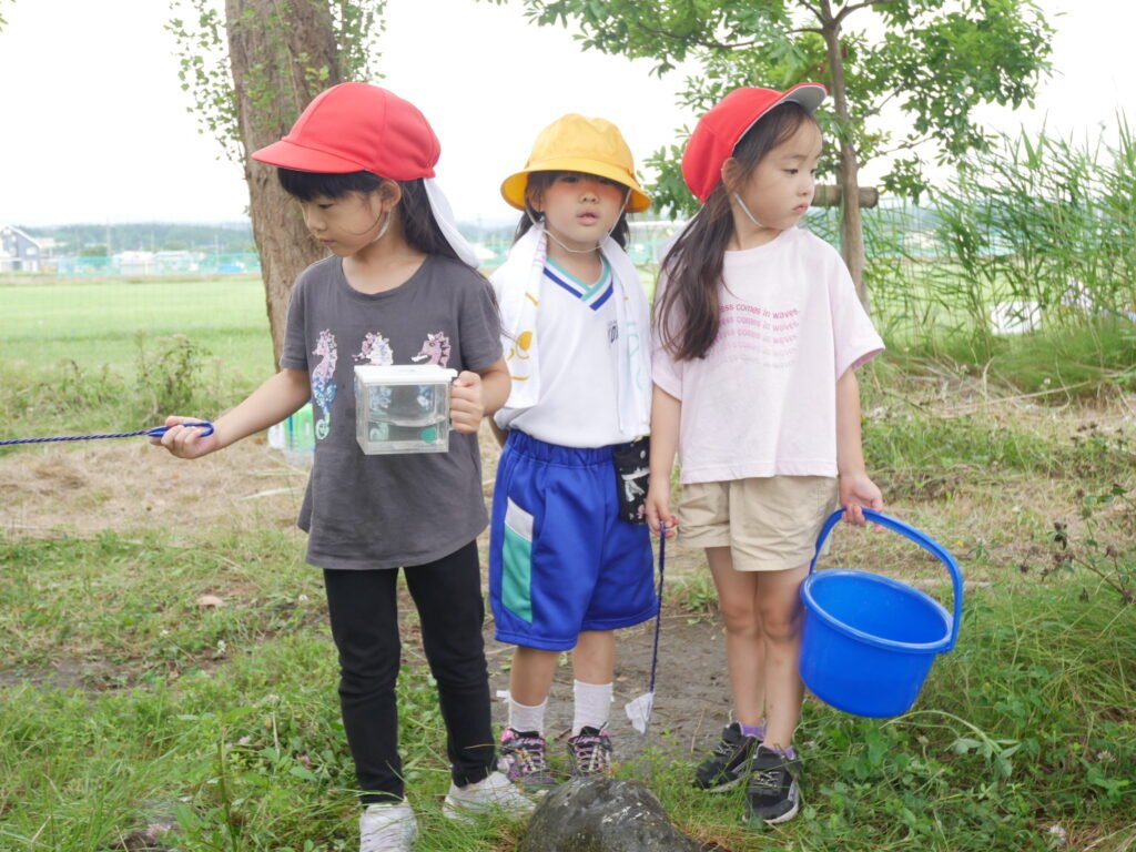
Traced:
<path id="1" fill-rule="evenodd" d="M 1136 841 L 1136 612 L 1067 588 L 1011 584 L 968 605 L 962 641 L 916 709 L 891 720 L 808 703 L 803 819 L 754 838 L 661 763 L 657 787 L 699 835 L 729 849 L 1045 850 Z M 1122 841 L 1122 842 L 1120 842 Z"/>

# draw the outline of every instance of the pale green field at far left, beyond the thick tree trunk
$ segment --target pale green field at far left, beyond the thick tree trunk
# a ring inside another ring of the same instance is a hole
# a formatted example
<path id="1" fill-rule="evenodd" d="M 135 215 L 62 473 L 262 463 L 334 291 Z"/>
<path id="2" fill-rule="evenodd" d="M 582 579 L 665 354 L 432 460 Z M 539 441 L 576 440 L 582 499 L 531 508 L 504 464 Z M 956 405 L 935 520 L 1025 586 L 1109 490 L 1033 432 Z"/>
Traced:
<path id="1" fill-rule="evenodd" d="M 0 437 L 127 432 L 165 414 L 212 412 L 270 374 L 256 278 L 0 278 Z"/>

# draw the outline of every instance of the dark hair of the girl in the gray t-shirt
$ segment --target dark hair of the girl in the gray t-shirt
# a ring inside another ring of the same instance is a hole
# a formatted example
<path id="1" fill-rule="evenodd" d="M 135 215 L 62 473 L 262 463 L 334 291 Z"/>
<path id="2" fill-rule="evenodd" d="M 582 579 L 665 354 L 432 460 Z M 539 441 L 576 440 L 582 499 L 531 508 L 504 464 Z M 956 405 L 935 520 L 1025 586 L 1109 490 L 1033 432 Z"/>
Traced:
<path id="1" fill-rule="evenodd" d="M 277 168 L 276 176 L 284 192 L 300 201 L 311 201 L 320 197 L 341 199 L 352 193 L 367 195 L 382 186 L 386 179 L 370 172 L 331 175 L 321 172 L 296 172 L 290 168 Z M 434 219 L 423 179 L 419 177 L 395 183 L 402 190 L 399 216 L 402 218 L 402 233 L 407 242 L 424 254 L 438 254 L 459 264 L 463 262 Z"/>

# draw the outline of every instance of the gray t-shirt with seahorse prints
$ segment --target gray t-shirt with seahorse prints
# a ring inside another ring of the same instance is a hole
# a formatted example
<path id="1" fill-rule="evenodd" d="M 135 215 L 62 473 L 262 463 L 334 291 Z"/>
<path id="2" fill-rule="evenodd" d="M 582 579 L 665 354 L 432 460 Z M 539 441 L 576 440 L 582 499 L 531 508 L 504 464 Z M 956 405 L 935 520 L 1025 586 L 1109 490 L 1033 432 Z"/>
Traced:
<path id="1" fill-rule="evenodd" d="M 281 367 L 311 381 L 316 452 L 298 521 L 310 565 L 423 565 L 485 528 L 477 435 L 451 432 L 444 453 L 365 456 L 353 381 L 358 364 L 483 370 L 501 358 L 499 332 L 488 284 L 453 260 L 429 256 L 404 284 L 376 294 L 353 290 L 337 257 L 300 275 Z"/>

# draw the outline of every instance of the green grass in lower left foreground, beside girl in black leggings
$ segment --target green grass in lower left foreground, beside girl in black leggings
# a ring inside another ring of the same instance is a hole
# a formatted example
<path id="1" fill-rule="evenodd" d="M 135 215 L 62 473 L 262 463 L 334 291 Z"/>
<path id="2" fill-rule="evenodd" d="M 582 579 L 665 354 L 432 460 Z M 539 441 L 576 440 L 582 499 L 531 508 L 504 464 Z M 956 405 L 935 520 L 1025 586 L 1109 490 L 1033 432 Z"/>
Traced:
<path id="1" fill-rule="evenodd" d="M 106 534 L 0 541 L 0 644 L 17 650 L 0 687 L 0 849 L 105 849 L 162 819 L 184 849 L 358 843 L 323 592 L 295 552 L 266 535 L 197 553 Z M 219 587 L 248 593 L 195 603 Z M 399 688 L 425 817 L 449 784 L 442 721 L 421 666 Z"/>

